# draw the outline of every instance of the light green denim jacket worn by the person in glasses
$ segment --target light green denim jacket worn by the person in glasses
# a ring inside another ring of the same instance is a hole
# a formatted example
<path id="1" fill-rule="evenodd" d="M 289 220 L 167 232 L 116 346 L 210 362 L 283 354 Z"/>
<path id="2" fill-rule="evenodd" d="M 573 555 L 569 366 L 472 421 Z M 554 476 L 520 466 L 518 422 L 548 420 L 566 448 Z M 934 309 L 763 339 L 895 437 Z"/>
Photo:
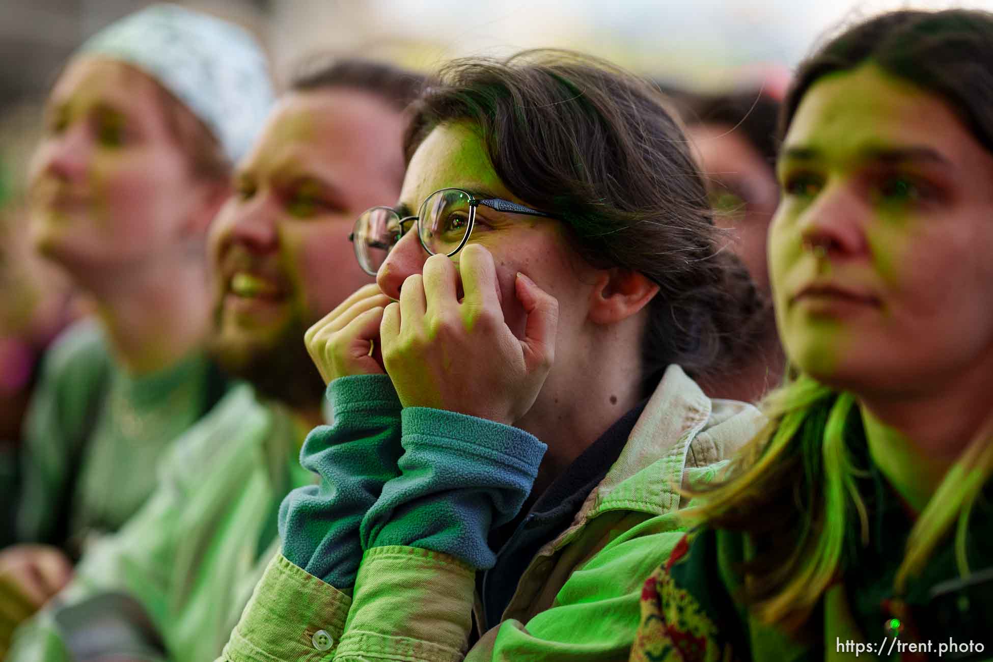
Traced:
<path id="1" fill-rule="evenodd" d="M 391 546 L 364 554 L 352 596 L 277 555 L 221 659 L 627 660 L 641 586 L 682 536 L 675 487 L 712 478 L 762 423 L 755 407 L 711 400 L 670 365 L 618 461 L 468 651 L 481 607 L 473 570 Z"/>

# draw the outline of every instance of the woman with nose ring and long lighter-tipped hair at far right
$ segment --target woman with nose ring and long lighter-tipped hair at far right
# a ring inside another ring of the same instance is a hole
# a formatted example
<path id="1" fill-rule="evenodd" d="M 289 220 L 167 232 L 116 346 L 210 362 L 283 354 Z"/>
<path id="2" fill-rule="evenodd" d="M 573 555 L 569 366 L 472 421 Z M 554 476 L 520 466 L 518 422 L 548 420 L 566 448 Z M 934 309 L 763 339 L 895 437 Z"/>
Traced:
<path id="1" fill-rule="evenodd" d="M 769 241 L 795 378 L 645 585 L 633 660 L 990 659 L 990 89 L 977 11 L 800 67 Z"/>

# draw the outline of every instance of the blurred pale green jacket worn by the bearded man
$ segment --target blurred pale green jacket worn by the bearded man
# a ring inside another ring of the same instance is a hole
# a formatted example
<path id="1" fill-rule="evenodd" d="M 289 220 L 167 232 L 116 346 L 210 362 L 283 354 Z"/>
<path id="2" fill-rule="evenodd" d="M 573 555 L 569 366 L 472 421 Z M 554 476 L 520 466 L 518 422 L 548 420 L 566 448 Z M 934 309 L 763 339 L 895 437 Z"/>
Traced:
<path id="1" fill-rule="evenodd" d="M 141 510 L 95 544 L 71 585 L 17 630 L 8 662 L 70 660 L 59 612 L 107 592 L 137 600 L 169 659 L 213 659 L 279 551 L 279 502 L 314 481 L 297 462 L 297 436 L 288 415 L 259 403 L 250 386 L 228 391 L 177 440 Z"/>

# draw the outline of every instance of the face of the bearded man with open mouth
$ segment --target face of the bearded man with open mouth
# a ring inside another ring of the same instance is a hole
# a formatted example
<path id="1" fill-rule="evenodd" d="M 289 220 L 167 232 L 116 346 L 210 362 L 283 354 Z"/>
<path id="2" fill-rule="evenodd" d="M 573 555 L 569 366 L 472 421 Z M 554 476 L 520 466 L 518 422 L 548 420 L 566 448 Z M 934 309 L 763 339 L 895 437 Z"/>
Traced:
<path id="1" fill-rule="evenodd" d="M 396 200 L 405 127 L 369 92 L 291 92 L 237 168 L 211 232 L 214 349 L 263 393 L 290 402 L 323 393 L 303 334 L 372 281 L 349 234 L 362 211 Z"/>

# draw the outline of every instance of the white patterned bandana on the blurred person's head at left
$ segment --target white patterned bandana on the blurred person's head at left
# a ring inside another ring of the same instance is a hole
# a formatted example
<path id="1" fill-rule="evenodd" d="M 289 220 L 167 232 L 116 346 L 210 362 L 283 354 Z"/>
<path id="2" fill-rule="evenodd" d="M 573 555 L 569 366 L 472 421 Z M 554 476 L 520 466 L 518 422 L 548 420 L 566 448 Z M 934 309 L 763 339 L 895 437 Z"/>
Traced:
<path id="1" fill-rule="evenodd" d="M 245 30 L 171 4 L 112 23 L 77 55 L 136 66 L 213 131 L 231 163 L 251 147 L 273 100 L 265 56 Z"/>

